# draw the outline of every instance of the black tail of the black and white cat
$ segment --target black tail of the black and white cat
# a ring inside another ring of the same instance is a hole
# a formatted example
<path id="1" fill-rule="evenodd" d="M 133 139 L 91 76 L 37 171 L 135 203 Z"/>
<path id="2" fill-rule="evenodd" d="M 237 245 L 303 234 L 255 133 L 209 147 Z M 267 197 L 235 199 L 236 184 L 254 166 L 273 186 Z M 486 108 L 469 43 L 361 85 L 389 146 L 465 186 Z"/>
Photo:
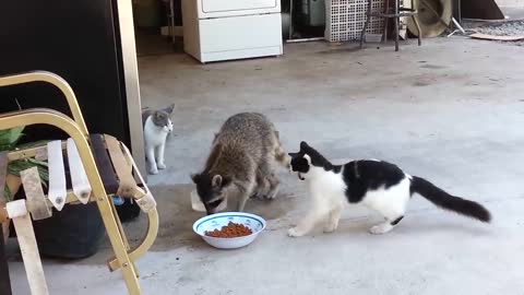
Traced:
<path id="1" fill-rule="evenodd" d="M 481 222 L 489 222 L 491 220 L 491 214 L 481 204 L 451 196 L 421 177 L 412 177 L 412 191 L 417 192 L 442 209 L 450 210 Z"/>

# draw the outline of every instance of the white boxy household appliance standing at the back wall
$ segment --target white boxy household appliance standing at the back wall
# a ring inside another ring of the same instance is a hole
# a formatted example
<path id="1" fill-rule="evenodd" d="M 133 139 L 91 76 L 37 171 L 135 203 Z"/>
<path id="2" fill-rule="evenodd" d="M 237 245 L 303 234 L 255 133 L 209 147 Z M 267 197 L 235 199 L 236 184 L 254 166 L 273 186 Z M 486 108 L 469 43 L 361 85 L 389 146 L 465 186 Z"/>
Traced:
<path id="1" fill-rule="evenodd" d="M 283 54 L 279 0 L 182 0 L 183 48 L 201 62 Z"/>

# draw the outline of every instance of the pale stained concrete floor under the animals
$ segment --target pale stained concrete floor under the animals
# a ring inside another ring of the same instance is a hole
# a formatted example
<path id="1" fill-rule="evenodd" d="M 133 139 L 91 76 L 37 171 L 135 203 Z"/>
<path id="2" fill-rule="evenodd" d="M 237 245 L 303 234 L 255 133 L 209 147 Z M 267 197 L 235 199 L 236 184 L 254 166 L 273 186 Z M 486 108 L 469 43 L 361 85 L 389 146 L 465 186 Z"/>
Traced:
<path id="1" fill-rule="evenodd" d="M 286 46 L 282 58 L 198 64 L 183 55 L 141 58 L 143 104 L 177 104 L 168 169 L 150 177 L 160 232 L 138 263 L 144 294 L 524 294 L 524 48 L 461 37 L 422 47 L 323 43 Z M 490 225 L 415 197 L 392 233 L 380 217 L 345 212 L 333 234 L 288 238 L 303 212 L 303 184 L 282 172 L 272 202 L 247 210 L 269 228 L 247 248 L 210 248 L 191 232 L 189 174 L 205 161 L 213 132 L 241 110 L 266 114 L 283 143 L 307 140 L 334 162 L 397 163 L 485 204 Z M 140 221 L 126 225 L 131 236 Z M 45 261 L 53 295 L 124 294 L 103 262 L 107 246 L 80 262 Z M 28 294 L 23 266 L 10 264 L 15 294 Z"/>

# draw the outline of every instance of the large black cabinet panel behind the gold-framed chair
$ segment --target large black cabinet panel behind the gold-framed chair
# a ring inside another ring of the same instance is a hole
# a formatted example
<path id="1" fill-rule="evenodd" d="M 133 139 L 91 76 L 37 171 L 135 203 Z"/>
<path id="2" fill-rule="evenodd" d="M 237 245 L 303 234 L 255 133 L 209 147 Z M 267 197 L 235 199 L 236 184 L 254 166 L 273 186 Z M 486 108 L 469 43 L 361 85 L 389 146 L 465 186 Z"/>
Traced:
<path id="1" fill-rule="evenodd" d="M 108 133 L 131 148 L 117 5 L 111 0 L 0 1 L 0 74 L 46 70 L 71 84 L 90 132 Z M 51 85 L 0 88 L 0 113 L 49 107 L 68 115 Z M 53 139 L 49 127 L 28 140 Z"/>

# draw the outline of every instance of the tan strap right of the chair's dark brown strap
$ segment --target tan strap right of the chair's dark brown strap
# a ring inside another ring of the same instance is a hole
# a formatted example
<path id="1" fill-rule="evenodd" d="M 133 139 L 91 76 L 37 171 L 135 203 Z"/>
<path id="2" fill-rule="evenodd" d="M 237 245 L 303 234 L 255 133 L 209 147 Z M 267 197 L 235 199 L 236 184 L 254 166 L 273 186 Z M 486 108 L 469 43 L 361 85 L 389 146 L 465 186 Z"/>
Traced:
<path id="1" fill-rule="evenodd" d="M 136 187 L 132 175 L 133 168 L 123 157 L 120 142 L 111 135 L 105 134 L 104 138 L 106 139 L 107 151 L 119 179 L 117 194 L 120 197 L 132 197 Z"/>

